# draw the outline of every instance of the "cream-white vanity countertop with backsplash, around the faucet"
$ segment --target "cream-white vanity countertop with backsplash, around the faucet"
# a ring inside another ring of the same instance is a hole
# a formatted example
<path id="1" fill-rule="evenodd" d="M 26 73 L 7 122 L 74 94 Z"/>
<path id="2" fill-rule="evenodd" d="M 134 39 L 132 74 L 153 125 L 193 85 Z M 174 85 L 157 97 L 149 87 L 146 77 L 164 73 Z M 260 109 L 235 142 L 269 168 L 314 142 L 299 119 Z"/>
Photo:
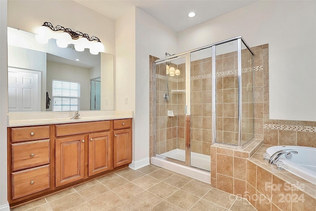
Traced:
<path id="1" fill-rule="evenodd" d="M 7 127 L 50 125 L 62 123 L 93 122 L 133 118 L 132 111 L 79 111 L 79 118 L 72 120 L 75 112 L 21 112 L 7 114 Z"/>

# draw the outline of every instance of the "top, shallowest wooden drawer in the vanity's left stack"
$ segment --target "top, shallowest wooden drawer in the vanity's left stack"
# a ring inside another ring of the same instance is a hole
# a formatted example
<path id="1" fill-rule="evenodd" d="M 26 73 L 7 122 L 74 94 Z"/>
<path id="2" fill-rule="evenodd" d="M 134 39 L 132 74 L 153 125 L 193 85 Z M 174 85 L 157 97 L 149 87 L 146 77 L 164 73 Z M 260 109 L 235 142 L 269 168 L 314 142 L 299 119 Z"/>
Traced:
<path id="1" fill-rule="evenodd" d="M 48 138 L 49 126 L 11 128 L 11 142 Z"/>

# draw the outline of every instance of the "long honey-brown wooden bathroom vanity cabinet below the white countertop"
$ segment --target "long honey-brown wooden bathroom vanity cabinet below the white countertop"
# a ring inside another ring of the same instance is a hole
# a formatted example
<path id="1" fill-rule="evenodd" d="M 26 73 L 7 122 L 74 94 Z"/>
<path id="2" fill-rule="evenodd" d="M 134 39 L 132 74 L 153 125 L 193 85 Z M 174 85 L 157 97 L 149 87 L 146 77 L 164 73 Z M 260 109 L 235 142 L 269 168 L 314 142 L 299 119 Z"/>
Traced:
<path id="1" fill-rule="evenodd" d="M 7 146 L 13 207 L 127 167 L 132 119 L 10 126 Z"/>

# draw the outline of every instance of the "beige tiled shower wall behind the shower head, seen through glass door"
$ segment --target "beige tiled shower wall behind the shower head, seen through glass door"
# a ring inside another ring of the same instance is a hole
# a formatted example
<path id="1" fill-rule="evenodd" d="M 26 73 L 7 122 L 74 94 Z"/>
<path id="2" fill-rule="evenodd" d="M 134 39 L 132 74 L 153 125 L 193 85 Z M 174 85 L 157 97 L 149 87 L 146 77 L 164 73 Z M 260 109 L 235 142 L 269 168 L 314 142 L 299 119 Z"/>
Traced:
<path id="1" fill-rule="evenodd" d="M 180 76 L 170 77 L 167 75 L 169 101 L 165 101 L 163 95 L 166 93 L 166 64 L 156 67 L 156 145 L 158 154 L 173 149 L 185 149 L 185 94 L 173 93 L 172 90 L 185 89 L 184 65 L 169 64 L 170 67 L 183 70 Z M 151 73 L 152 74 L 152 73 Z M 152 82 L 151 82 L 152 86 Z M 152 99 L 152 97 L 151 97 Z M 151 106 L 152 107 L 152 106 Z M 167 111 L 173 111 L 174 117 L 167 116 Z M 154 111 L 151 111 L 154 114 Z M 151 117 L 152 119 L 153 117 Z M 153 119 L 151 120 L 152 123 Z M 153 134 L 153 131 L 151 131 Z M 153 140 L 153 136 L 151 136 Z M 151 147 L 155 143 L 151 143 Z"/>

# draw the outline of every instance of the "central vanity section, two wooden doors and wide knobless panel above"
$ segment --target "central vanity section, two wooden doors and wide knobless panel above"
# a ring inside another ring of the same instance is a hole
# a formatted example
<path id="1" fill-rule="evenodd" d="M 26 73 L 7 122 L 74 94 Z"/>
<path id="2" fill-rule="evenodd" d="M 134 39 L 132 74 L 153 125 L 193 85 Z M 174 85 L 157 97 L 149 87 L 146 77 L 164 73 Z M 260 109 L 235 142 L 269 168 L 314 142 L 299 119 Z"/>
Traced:
<path id="1" fill-rule="evenodd" d="M 61 124 L 55 128 L 56 187 L 112 168 L 111 121 Z M 63 136 L 69 137 L 59 138 Z"/>

